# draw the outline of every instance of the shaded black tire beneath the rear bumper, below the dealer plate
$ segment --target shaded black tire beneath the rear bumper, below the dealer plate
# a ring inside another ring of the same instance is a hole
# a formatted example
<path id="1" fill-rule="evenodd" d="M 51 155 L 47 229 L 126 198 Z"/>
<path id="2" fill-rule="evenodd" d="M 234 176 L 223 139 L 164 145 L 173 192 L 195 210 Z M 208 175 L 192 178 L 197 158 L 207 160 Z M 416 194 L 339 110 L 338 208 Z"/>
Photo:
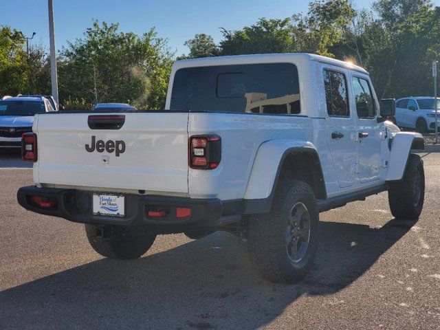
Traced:
<path id="1" fill-rule="evenodd" d="M 97 225 L 85 225 L 87 239 L 92 248 L 111 259 L 137 259 L 153 245 L 156 235 L 144 227 L 107 226 L 107 237 L 96 236 Z"/>

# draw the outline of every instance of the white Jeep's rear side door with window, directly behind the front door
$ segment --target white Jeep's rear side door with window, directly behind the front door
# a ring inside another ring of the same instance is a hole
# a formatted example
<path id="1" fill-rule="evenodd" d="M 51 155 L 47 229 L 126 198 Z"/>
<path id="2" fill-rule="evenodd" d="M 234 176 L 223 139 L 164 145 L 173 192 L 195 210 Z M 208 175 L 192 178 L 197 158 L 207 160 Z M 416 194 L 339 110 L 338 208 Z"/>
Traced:
<path id="1" fill-rule="evenodd" d="M 351 186 L 356 177 L 357 146 L 354 115 L 349 108 L 347 74 L 339 69 L 323 71 L 327 101 L 327 143 L 341 188 Z"/>

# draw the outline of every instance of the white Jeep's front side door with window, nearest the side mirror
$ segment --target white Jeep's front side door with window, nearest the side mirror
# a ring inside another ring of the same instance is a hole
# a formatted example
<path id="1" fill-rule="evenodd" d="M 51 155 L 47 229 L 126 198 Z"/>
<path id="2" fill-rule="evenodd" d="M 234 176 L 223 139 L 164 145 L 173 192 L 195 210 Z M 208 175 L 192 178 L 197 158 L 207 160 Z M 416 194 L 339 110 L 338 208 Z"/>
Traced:
<path id="1" fill-rule="evenodd" d="M 357 113 L 358 173 L 361 184 L 379 179 L 382 131 L 377 122 L 378 104 L 369 81 L 352 76 L 353 97 Z"/>

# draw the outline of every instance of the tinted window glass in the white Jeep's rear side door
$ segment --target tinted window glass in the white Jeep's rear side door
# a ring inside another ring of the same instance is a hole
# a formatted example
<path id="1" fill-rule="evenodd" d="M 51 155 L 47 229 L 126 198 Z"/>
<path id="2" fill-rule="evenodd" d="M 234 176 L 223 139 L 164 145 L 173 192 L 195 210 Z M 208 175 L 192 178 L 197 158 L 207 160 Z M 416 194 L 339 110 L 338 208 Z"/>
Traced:
<path id="1" fill-rule="evenodd" d="M 347 79 L 340 72 L 324 70 L 325 98 L 327 113 L 331 117 L 349 117 Z"/>

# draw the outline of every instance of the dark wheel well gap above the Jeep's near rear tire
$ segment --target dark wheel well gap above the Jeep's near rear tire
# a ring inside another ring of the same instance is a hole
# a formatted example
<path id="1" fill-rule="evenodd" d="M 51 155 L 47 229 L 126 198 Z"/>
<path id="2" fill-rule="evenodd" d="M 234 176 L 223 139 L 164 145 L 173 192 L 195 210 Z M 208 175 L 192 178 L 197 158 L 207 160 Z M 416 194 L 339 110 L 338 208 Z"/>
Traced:
<path id="1" fill-rule="evenodd" d="M 285 179 L 305 181 L 314 190 L 317 199 L 327 198 L 321 163 L 315 152 L 296 151 L 287 154 L 281 164 L 277 185 Z"/>

